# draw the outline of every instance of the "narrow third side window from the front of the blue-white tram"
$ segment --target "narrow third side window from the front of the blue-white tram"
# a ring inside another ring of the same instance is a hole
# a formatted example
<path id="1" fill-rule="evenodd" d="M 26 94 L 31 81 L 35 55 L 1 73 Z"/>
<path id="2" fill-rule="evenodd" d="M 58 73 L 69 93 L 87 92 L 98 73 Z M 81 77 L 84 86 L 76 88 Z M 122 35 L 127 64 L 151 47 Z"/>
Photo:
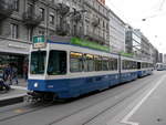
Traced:
<path id="1" fill-rule="evenodd" d="M 95 71 L 102 71 L 102 58 L 98 55 L 94 56 L 94 65 L 95 65 Z"/>

